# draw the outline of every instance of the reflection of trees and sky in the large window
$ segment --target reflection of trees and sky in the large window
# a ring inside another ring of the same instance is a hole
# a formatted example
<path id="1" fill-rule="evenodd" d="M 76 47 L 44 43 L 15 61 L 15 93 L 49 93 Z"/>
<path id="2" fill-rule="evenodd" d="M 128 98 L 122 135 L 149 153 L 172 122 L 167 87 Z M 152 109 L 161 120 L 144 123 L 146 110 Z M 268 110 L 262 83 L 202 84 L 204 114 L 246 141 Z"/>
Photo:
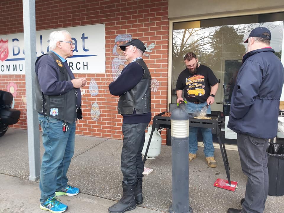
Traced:
<path id="1" fill-rule="evenodd" d="M 217 78 L 223 79 L 223 64 L 226 60 L 243 57 L 246 53 L 244 37 L 252 29 L 259 26 L 274 29 L 280 25 L 283 29 L 283 21 L 280 21 L 276 25 L 275 22 L 267 22 L 173 30 L 172 67 L 175 69 L 172 70 L 172 88 L 175 89 L 176 79 L 185 69 L 183 57 L 187 52 L 196 53 L 201 64 L 210 67 Z M 275 54 L 281 58 L 281 51 Z"/>

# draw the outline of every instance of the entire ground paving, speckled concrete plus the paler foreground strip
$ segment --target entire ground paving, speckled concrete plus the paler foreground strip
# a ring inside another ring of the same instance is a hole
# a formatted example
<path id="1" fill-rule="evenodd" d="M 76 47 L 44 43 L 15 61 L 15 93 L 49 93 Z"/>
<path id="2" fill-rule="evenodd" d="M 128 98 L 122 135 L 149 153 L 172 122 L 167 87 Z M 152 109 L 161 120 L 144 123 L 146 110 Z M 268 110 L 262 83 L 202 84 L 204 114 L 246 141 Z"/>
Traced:
<path id="1" fill-rule="evenodd" d="M 108 207 L 122 196 L 122 141 L 76 135 L 75 144 L 67 176 L 69 184 L 80 188 L 81 193 L 59 199 L 69 206 L 67 213 L 107 213 Z M 215 150 L 217 168 L 208 167 L 202 150 L 199 147 L 197 158 L 189 164 L 189 203 L 193 212 L 226 213 L 230 207 L 241 208 L 246 176 L 241 171 L 238 152 L 227 150 L 231 180 L 238 182 L 238 189 L 232 192 L 213 186 L 217 178 L 226 179 L 220 149 Z M 28 162 L 27 130 L 9 128 L 0 138 L 0 213 L 44 212 L 39 208 L 38 181 L 28 180 Z M 156 159 L 146 161 L 145 166 L 154 171 L 143 178 L 144 203 L 130 212 L 168 212 L 172 204 L 171 163 L 171 147 L 165 145 Z M 268 196 L 264 213 L 283 213 L 283 200 L 283 196 Z"/>

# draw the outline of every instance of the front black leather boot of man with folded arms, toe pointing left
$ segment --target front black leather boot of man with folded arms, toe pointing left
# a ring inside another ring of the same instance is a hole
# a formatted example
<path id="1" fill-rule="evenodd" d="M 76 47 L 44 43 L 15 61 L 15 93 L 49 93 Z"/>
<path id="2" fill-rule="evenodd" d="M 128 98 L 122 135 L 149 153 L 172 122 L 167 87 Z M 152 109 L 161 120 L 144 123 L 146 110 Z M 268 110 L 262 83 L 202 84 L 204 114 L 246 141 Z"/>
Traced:
<path id="1" fill-rule="evenodd" d="M 109 207 L 110 213 L 123 213 L 125 211 L 130 211 L 135 209 L 135 196 L 134 188 L 135 186 L 128 186 L 122 182 L 123 195 L 122 198 L 114 205 Z"/>

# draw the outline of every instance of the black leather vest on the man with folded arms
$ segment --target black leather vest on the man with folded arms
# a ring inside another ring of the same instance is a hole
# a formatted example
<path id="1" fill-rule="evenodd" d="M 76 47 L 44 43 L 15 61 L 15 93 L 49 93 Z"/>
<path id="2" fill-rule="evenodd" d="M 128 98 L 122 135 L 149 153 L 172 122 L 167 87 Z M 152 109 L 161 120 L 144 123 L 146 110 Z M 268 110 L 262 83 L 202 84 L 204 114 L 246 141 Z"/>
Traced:
<path id="1" fill-rule="evenodd" d="M 151 112 L 151 74 L 143 59 L 135 61 L 144 70 L 141 80 L 125 94 L 122 94 L 118 101 L 118 114 L 136 114 Z"/>

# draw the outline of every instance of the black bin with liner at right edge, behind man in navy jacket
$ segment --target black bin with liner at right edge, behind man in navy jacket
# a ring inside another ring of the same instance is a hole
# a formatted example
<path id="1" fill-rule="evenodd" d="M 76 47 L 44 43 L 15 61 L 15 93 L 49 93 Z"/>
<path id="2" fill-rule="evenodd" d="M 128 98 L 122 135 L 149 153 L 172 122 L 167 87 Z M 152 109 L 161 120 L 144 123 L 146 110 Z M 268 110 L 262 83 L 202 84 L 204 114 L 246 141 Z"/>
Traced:
<path id="1" fill-rule="evenodd" d="M 270 196 L 284 195 L 284 152 L 283 151 L 284 151 L 284 145 L 278 143 L 270 143 L 267 149 L 267 157 L 268 157 L 267 167 L 268 167 L 268 176 L 269 176 L 268 195 Z"/>

